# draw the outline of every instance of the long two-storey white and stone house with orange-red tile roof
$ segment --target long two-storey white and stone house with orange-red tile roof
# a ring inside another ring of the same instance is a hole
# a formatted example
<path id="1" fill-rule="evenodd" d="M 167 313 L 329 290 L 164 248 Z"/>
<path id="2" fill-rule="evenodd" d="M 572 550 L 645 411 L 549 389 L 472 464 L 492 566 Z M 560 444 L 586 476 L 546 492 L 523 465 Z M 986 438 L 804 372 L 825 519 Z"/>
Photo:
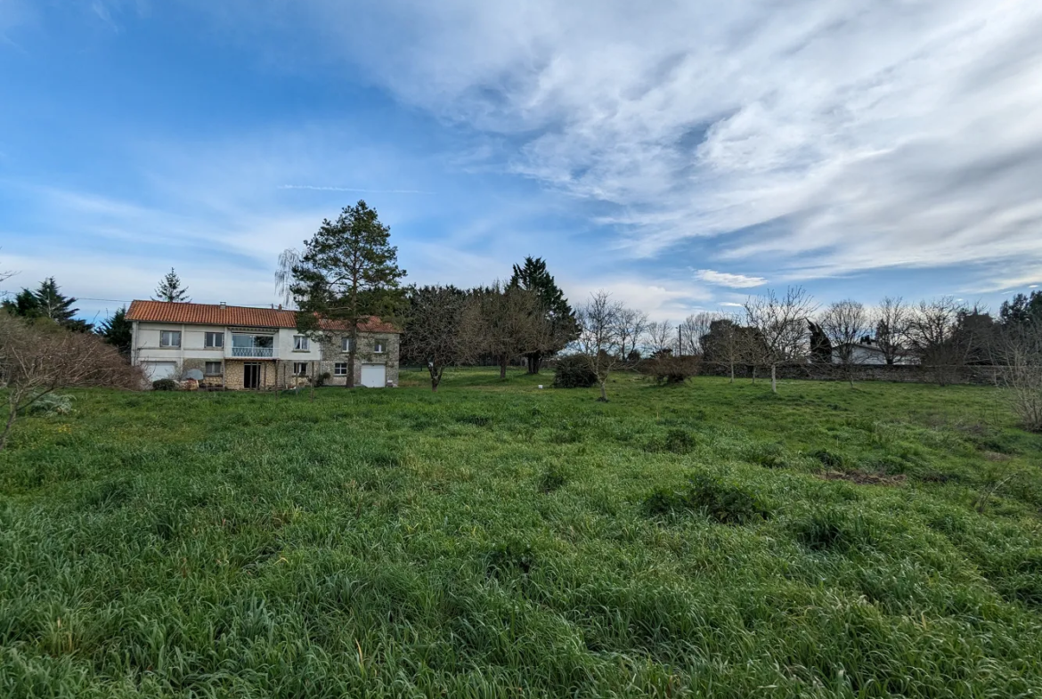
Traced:
<path id="1" fill-rule="evenodd" d="M 203 384 L 227 389 L 297 385 L 314 376 L 347 382 L 350 335 L 344 323 L 323 321 L 321 341 L 297 331 L 297 315 L 282 308 L 224 303 L 133 301 L 131 358 L 150 380 L 181 378 L 197 369 Z M 399 330 L 379 319 L 358 326 L 354 384 L 398 383 Z"/>

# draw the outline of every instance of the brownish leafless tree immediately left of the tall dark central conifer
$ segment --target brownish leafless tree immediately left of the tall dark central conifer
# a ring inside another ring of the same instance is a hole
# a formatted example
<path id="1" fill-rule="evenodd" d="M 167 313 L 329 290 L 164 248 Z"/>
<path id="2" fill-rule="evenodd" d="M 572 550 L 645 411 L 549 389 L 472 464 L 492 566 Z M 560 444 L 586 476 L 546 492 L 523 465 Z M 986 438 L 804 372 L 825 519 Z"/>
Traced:
<path id="1" fill-rule="evenodd" d="M 538 349 L 539 299 L 534 292 L 496 281 L 473 292 L 468 327 L 481 351 L 499 365 L 499 378 L 506 378 L 510 360 Z"/>

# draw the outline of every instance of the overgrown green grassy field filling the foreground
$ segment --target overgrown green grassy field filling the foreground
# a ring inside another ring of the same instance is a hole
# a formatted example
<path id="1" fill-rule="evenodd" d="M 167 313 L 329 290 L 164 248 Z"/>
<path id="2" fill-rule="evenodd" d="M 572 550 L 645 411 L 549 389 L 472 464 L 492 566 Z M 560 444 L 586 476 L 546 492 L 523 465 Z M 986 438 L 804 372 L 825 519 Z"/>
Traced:
<path id="1" fill-rule="evenodd" d="M 1042 694 L 994 389 L 75 393 L 0 453 L 0 696 Z"/>

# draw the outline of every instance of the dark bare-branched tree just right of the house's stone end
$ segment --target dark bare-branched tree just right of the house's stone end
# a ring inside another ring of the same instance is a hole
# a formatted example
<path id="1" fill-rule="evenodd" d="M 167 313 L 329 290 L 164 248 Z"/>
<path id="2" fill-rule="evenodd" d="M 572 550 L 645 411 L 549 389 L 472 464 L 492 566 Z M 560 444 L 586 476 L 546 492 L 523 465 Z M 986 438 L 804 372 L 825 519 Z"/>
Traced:
<path id="1" fill-rule="evenodd" d="M 477 346 L 467 319 L 467 293 L 454 286 L 421 286 L 410 290 L 408 303 L 402 359 L 426 365 L 430 390 L 438 391 L 445 368 L 471 359 Z"/>

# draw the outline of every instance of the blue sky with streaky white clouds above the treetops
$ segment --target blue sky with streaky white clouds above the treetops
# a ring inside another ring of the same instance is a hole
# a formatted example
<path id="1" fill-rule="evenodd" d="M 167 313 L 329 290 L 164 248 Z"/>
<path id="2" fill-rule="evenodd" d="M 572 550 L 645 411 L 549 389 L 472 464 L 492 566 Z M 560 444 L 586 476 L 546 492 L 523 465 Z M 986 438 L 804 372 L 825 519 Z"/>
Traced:
<path id="1" fill-rule="evenodd" d="M 1042 283 L 1038 0 L 0 0 L 0 283 L 278 301 L 365 199 L 412 283 L 674 322 Z"/>

